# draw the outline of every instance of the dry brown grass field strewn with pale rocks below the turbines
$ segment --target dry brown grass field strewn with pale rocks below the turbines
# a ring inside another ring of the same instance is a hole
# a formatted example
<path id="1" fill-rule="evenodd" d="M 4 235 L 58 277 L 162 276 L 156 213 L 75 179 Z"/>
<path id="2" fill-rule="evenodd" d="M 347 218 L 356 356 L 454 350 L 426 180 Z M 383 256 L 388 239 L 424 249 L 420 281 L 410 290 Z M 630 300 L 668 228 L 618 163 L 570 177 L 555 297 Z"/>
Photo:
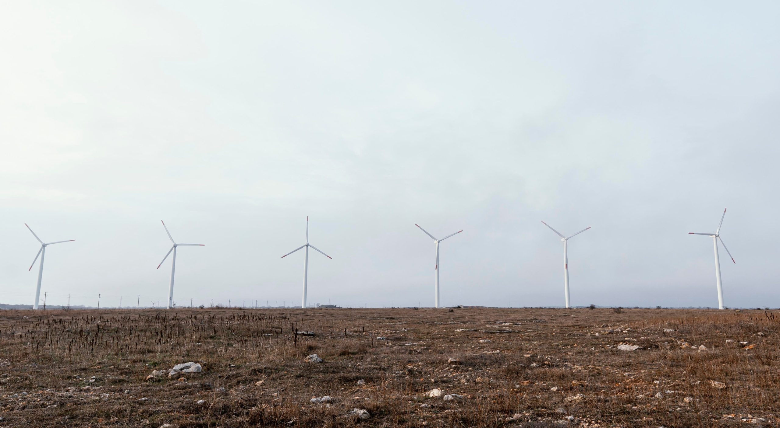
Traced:
<path id="1" fill-rule="evenodd" d="M 778 426 L 778 324 L 764 310 L 5 310 L 0 426 Z M 190 361 L 203 370 L 147 380 Z"/>

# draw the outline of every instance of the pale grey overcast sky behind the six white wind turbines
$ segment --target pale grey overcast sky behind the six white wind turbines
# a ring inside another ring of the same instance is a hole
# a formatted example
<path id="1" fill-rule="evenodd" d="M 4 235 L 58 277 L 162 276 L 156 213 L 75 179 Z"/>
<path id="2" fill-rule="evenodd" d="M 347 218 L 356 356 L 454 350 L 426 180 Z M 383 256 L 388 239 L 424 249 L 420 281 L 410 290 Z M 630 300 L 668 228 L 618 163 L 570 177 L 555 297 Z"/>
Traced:
<path id="1" fill-rule="evenodd" d="M 778 307 L 778 9 L 2 2 L 0 302 Z"/>

